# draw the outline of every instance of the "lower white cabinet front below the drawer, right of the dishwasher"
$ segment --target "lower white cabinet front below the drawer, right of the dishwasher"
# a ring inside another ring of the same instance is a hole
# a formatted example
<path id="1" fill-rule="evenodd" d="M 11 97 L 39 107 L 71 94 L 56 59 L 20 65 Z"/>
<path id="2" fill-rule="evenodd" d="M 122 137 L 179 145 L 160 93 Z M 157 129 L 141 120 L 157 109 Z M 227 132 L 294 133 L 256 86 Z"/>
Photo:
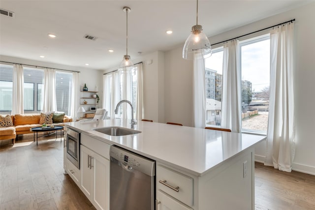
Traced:
<path id="1" fill-rule="evenodd" d="M 172 198 L 161 190 L 157 191 L 157 210 L 192 210 L 182 202 Z"/>

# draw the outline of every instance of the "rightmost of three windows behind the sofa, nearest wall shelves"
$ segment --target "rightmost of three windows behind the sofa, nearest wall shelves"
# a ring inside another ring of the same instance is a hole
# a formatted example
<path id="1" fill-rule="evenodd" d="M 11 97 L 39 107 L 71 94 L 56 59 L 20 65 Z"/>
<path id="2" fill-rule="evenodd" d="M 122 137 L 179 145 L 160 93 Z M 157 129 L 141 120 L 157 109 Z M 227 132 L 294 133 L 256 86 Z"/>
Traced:
<path id="1" fill-rule="evenodd" d="M 70 115 L 72 73 L 56 71 L 57 110 Z"/>

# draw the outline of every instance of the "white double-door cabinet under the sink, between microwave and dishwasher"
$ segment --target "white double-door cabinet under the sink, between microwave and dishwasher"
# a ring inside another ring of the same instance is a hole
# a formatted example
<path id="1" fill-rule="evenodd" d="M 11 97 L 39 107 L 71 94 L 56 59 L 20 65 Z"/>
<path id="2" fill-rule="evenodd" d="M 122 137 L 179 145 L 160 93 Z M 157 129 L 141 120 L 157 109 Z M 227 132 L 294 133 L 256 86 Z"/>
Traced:
<path id="1" fill-rule="evenodd" d="M 102 144 L 103 147 L 97 147 L 98 144 Z M 106 143 L 81 134 L 80 188 L 98 210 L 109 210 L 110 161 L 104 157 L 109 156 L 109 147 Z M 100 153 L 103 153 L 107 149 L 106 155 L 96 153 L 97 150 L 102 150 Z"/>

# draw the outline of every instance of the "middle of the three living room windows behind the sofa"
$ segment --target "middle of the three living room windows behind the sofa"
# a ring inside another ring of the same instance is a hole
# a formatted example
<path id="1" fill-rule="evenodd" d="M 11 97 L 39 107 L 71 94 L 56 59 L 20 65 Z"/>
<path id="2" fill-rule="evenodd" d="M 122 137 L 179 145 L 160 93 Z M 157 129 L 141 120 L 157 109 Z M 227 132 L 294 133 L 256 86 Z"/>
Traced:
<path id="1" fill-rule="evenodd" d="M 44 79 L 44 71 L 36 68 L 23 67 L 24 72 L 24 99 L 23 106 L 26 113 L 37 113 L 42 110 L 41 90 Z"/>

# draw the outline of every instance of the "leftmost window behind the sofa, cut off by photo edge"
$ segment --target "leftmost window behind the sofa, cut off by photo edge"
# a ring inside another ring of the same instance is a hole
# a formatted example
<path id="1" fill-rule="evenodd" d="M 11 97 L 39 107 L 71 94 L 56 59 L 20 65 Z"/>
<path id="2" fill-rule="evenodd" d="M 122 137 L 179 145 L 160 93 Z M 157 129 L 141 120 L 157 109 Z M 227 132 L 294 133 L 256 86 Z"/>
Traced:
<path id="1" fill-rule="evenodd" d="M 0 64 L 0 113 L 10 114 L 12 110 L 13 66 Z"/>

